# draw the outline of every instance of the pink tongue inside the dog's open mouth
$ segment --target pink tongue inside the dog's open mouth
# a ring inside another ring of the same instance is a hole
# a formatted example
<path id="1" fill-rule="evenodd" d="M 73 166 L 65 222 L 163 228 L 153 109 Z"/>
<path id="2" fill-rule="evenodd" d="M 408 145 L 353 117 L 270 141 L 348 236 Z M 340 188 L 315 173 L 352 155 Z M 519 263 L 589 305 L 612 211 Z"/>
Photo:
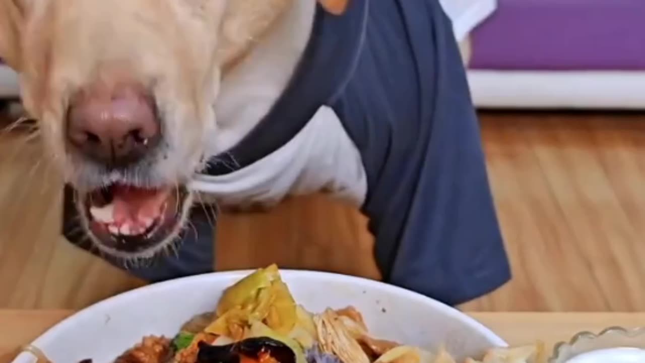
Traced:
<path id="1" fill-rule="evenodd" d="M 137 223 L 155 219 L 161 214 L 163 203 L 168 198 L 167 189 L 143 189 L 128 185 L 114 185 L 114 222 Z"/>

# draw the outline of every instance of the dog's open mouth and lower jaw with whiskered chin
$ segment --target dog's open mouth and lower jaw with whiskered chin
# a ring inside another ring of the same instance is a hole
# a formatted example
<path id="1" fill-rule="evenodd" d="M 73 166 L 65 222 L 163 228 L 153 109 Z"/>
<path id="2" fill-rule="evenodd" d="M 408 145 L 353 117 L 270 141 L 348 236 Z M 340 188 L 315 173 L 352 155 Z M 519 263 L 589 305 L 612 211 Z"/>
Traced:
<path id="1" fill-rule="evenodd" d="M 76 206 L 101 253 L 133 260 L 174 249 L 191 203 L 185 186 L 148 189 L 115 183 L 77 194 Z"/>

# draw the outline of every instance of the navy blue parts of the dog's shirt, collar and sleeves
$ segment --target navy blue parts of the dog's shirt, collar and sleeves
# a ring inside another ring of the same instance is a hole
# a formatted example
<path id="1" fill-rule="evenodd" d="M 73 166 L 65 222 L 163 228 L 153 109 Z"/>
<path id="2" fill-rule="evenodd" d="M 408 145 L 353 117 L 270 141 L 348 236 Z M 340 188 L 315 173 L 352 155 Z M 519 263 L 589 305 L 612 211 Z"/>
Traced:
<path id="1" fill-rule="evenodd" d="M 323 105 L 361 154 L 362 213 L 385 282 L 456 305 L 510 279 L 461 54 L 437 0 L 352 0 L 342 16 L 319 7 L 281 98 L 205 172 L 228 174 L 268 156 Z M 74 234 L 72 200 L 67 187 L 63 233 L 96 253 Z M 197 207 L 191 220 L 199 231 L 184 232 L 177 258 L 130 271 L 153 281 L 210 271 L 213 218 Z"/>

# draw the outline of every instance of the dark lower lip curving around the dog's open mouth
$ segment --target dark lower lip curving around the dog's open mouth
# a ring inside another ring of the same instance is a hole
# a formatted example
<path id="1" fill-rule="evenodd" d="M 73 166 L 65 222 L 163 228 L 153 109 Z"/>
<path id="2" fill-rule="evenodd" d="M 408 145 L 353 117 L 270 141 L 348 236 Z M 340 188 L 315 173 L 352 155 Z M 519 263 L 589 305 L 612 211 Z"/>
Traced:
<path id="1" fill-rule="evenodd" d="M 90 198 L 93 194 L 96 196 L 96 193 L 101 192 L 100 190 L 84 194 L 81 198 L 83 198 L 84 214 L 88 220 L 89 233 L 92 234 L 95 242 L 100 244 L 101 247 L 118 253 L 140 253 L 163 244 L 181 224 L 181 214 L 183 213 L 181 208 L 189 194 L 184 186 L 176 187 L 174 190 L 176 192 L 166 194 L 166 198 L 161 205 L 163 209 L 159 215 L 146 229 L 134 235 L 115 233 L 118 231 L 114 231 L 112 225 L 94 218 L 91 208 L 97 205 L 100 207 L 110 202 L 109 200 L 103 200 L 97 204 L 96 198 Z"/>

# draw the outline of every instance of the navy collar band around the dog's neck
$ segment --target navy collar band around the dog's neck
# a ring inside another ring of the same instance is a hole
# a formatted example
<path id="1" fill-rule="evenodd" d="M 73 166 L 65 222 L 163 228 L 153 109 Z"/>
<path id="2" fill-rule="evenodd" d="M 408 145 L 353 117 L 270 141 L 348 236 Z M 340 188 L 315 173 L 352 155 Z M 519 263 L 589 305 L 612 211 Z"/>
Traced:
<path id="1" fill-rule="evenodd" d="M 366 28 L 370 0 L 350 0 L 333 16 L 317 5 L 312 35 L 292 79 L 272 109 L 231 149 L 213 157 L 203 174 L 229 174 L 288 143 L 351 77 Z"/>

